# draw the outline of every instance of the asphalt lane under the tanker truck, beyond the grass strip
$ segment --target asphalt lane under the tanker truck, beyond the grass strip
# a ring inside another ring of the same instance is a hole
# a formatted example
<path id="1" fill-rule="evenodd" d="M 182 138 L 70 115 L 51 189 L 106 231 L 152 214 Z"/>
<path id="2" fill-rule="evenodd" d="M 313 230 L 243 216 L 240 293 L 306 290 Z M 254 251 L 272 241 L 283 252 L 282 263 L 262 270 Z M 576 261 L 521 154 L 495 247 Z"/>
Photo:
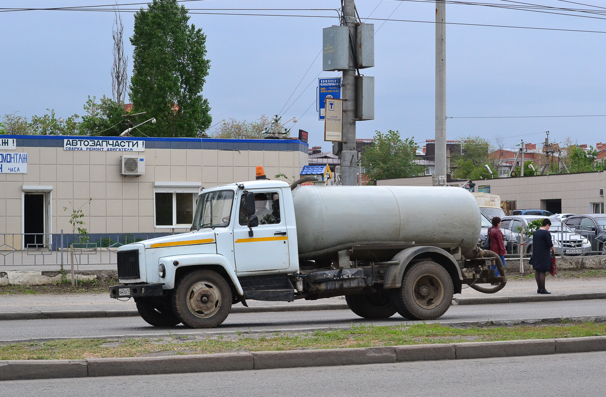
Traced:
<path id="1" fill-rule="evenodd" d="M 528 320 L 535 318 L 602 316 L 605 314 L 606 300 L 488 304 L 451 306 L 438 322 Z M 397 314 L 387 320 L 364 320 L 350 312 L 350 310 L 231 313 L 227 317 L 227 320 L 215 329 L 187 329 L 183 326 L 170 328 L 152 327 L 139 317 L 15 320 L 1 321 L 0 341 L 167 335 L 169 332 L 173 334 L 200 335 L 204 333 L 228 333 L 236 331 L 298 331 L 324 327 L 350 327 L 351 324 L 400 324 L 404 321 Z"/>

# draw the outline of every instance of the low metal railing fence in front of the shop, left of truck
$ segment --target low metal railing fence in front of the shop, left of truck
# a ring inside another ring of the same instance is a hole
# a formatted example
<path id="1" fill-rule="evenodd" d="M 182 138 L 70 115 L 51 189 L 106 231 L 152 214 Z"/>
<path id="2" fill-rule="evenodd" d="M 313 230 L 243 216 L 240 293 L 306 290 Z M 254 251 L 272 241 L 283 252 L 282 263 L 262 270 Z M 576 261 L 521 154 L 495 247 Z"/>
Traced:
<path id="1" fill-rule="evenodd" d="M 116 264 L 116 251 L 124 244 L 175 234 L 91 233 L 0 234 L 2 266 L 78 266 Z"/>

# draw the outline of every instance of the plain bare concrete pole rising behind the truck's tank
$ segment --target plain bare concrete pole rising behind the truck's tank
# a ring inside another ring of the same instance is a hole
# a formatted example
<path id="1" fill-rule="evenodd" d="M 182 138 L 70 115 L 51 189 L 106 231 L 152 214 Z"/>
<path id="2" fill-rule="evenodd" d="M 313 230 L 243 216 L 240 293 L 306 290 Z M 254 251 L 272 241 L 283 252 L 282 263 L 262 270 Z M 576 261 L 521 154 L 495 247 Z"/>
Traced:
<path id="1" fill-rule="evenodd" d="M 436 0 L 436 185 L 446 184 L 446 4 Z"/>

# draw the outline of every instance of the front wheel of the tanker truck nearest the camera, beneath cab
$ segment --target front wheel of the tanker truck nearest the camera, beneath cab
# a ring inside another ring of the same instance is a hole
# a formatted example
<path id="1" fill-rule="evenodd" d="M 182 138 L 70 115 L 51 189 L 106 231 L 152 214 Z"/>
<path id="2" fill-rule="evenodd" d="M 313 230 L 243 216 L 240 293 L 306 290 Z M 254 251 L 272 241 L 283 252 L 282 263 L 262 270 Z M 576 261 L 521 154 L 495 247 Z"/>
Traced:
<path id="1" fill-rule="evenodd" d="M 198 270 L 179 281 L 173 296 L 173 307 L 185 326 L 214 328 L 231 310 L 231 288 L 221 275 Z"/>

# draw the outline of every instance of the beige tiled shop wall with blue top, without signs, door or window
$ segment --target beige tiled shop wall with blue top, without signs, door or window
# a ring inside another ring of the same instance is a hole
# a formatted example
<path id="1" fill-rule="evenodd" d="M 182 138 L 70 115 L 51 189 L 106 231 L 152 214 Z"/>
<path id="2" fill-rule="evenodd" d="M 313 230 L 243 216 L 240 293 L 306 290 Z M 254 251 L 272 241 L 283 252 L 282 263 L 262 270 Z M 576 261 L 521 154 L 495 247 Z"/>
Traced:
<path id="1" fill-rule="evenodd" d="M 16 139 L 16 149 L 0 153 L 27 153 L 27 174 L 0 174 L 0 234 L 22 233 L 23 186 L 50 186 L 52 233 L 72 232 L 70 211 L 82 207 L 89 233 L 167 232 L 155 228 L 155 183 L 186 183 L 205 188 L 255 179 L 264 166 L 270 179 L 285 174 L 298 178 L 307 165 L 307 143 L 298 140 L 162 139 L 145 141 L 145 151 L 71 151 L 64 139 L 133 138 L 2 136 Z M 145 174 L 122 176 L 123 154 L 145 157 Z M 90 204 L 86 204 L 92 198 Z M 1 242 L 0 242 L 1 244 Z"/>

